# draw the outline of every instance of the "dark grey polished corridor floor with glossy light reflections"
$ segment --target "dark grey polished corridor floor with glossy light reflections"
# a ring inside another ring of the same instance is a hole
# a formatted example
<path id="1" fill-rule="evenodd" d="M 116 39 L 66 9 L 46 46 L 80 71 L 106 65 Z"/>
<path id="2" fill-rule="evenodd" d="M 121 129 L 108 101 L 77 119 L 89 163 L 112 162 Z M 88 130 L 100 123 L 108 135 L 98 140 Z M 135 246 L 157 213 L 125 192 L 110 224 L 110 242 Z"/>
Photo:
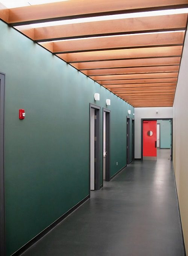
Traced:
<path id="1" fill-rule="evenodd" d="M 131 163 L 22 255 L 185 256 L 168 155 Z"/>

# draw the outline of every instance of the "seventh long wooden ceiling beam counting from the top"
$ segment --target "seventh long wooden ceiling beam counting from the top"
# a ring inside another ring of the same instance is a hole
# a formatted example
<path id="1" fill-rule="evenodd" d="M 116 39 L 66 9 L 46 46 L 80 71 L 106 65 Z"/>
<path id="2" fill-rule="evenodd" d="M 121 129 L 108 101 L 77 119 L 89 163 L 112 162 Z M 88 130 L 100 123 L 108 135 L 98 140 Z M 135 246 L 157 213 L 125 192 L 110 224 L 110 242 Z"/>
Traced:
<path id="1" fill-rule="evenodd" d="M 178 72 L 173 73 L 147 73 L 147 74 L 130 74 L 130 75 L 108 75 L 108 76 L 90 76 L 96 81 L 102 80 L 119 80 L 119 79 L 146 79 L 146 78 L 176 78 Z"/>

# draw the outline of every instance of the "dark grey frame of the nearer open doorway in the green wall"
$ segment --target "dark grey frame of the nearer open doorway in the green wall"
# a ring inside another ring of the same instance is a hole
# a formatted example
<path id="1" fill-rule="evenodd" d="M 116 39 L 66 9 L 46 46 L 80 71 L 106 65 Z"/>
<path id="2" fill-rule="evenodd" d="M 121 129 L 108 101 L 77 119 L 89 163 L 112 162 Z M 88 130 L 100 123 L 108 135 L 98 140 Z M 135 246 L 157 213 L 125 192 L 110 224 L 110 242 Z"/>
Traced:
<path id="1" fill-rule="evenodd" d="M 96 134 L 96 147 L 95 147 L 95 155 L 96 155 L 96 163 L 95 163 L 95 180 L 96 183 L 94 185 L 95 190 L 100 189 L 100 107 L 94 104 L 89 104 L 89 197 L 91 193 L 91 108 L 97 110 L 97 119 L 95 125 L 95 134 Z"/>

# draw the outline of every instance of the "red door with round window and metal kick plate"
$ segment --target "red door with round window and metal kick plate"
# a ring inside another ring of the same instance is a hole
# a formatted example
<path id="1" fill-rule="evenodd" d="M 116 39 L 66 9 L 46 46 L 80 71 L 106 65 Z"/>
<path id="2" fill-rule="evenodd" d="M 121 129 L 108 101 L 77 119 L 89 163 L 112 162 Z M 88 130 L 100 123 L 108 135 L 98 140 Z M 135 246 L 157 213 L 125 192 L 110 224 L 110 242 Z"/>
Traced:
<path id="1" fill-rule="evenodd" d="M 157 120 L 143 121 L 143 159 L 157 159 Z"/>

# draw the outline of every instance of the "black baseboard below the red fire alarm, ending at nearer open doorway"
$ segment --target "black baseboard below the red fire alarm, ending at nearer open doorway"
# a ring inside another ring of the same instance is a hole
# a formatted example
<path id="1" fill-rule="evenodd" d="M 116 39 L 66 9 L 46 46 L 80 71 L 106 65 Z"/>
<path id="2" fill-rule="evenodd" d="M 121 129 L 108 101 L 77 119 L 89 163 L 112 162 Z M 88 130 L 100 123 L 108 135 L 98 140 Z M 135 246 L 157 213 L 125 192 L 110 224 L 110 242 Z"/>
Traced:
<path id="1" fill-rule="evenodd" d="M 27 249 L 29 249 L 30 247 L 32 247 L 34 244 L 36 244 L 36 242 L 38 242 L 41 238 L 43 238 L 43 236 L 45 236 L 47 233 L 49 233 L 52 229 L 54 229 L 61 221 L 63 221 L 68 215 L 70 215 L 72 212 L 74 212 L 74 210 L 76 210 L 80 205 L 82 205 L 83 203 L 85 203 L 86 200 L 89 199 L 89 195 L 86 196 L 85 198 L 83 198 L 82 201 L 80 201 L 79 203 L 77 203 L 75 206 L 73 206 L 70 210 L 68 210 L 68 212 L 66 212 L 64 215 L 62 215 L 61 217 L 59 217 L 59 219 L 57 219 L 56 221 L 54 221 L 52 224 L 50 224 L 50 226 L 48 226 L 47 228 L 45 228 L 44 230 L 42 230 L 41 233 L 39 233 L 38 235 L 36 235 L 33 239 L 31 239 L 29 242 L 27 242 L 27 244 L 23 245 L 20 249 L 18 249 L 15 253 L 13 253 L 11 256 L 19 256 L 22 253 L 24 253 Z"/>

